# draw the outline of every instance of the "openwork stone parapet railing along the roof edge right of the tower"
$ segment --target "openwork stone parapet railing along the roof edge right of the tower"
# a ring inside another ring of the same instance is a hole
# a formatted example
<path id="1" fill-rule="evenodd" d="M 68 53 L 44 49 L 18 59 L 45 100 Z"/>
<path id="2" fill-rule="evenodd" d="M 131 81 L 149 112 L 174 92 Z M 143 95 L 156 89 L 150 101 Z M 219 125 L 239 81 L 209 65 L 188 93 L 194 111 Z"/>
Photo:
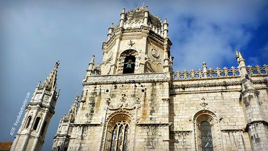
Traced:
<path id="1" fill-rule="evenodd" d="M 263 65 L 260 67 L 256 65 L 255 68 L 252 66 L 247 66 L 247 73 L 248 75 L 261 75 L 261 74 L 268 74 L 268 65 Z M 224 67 L 223 70 L 220 70 L 219 67 L 216 70 L 209 68 L 207 70 L 206 63 L 203 63 L 203 70 L 198 69 L 195 71 L 192 69 L 190 72 L 184 70 L 183 72 L 177 70 L 176 73 L 173 73 L 173 79 L 186 79 L 186 78 L 204 78 L 204 77 L 222 77 L 222 76 L 240 76 L 240 70 L 235 68 L 234 66 L 231 69 Z"/>

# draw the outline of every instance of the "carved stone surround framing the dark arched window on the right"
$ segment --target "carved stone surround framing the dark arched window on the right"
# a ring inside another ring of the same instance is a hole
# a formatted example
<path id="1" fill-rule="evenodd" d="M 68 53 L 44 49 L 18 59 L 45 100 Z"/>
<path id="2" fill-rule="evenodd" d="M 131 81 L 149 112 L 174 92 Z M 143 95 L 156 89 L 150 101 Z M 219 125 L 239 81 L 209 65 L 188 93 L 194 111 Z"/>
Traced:
<path id="1" fill-rule="evenodd" d="M 201 107 L 196 107 L 196 112 L 189 116 L 189 120 L 192 121 L 195 138 L 195 151 L 202 151 L 201 129 L 200 124 L 204 121 L 210 123 L 212 142 L 214 151 L 221 151 L 221 136 L 219 121 L 223 116 L 216 113 L 213 107 L 209 107 L 204 98 L 201 99 L 199 104 Z"/>

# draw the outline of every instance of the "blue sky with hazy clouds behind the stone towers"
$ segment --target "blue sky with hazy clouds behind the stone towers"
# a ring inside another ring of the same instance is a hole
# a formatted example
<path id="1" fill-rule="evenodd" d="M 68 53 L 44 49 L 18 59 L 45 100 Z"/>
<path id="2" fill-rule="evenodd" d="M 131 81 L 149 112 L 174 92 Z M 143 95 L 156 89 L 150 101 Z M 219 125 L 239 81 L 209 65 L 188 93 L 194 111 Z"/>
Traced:
<path id="1" fill-rule="evenodd" d="M 60 60 L 61 93 L 42 151 L 51 150 L 61 116 L 81 93 L 88 63 L 102 60 L 108 27 L 122 8 L 143 0 L 1 0 L 0 142 L 12 142 L 10 130 L 27 92 Z M 268 64 L 268 0 L 145 0 L 149 12 L 168 19 L 173 70 L 237 67 L 235 49 L 246 65 Z M 19 126 L 16 127 L 16 132 Z"/>

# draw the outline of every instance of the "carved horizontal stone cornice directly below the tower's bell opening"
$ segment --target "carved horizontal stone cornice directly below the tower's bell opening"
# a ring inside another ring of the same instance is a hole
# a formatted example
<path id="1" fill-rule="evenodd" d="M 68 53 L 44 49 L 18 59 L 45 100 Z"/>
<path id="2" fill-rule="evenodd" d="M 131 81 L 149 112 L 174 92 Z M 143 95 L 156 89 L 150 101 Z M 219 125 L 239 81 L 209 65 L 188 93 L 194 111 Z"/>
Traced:
<path id="1" fill-rule="evenodd" d="M 95 84 L 118 84 L 118 83 L 150 83 L 169 82 L 170 73 L 147 73 L 147 74 L 125 74 L 125 75 L 101 75 L 87 76 L 87 80 L 82 82 L 85 85 Z"/>

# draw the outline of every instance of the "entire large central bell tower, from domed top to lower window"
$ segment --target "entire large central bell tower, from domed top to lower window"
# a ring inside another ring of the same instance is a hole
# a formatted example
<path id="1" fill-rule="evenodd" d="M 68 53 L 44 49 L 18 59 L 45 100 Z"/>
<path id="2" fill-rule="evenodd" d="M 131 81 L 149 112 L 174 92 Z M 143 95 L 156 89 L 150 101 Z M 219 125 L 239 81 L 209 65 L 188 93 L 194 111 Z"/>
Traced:
<path id="1" fill-rule="evenodd" d="M 153 148 L 168 151 L 173 58 L 167 19 L 144 6 L 123 9 L 108 30 L 103 60 L 95 65 L 93 55 L 82 82 L 68 151 L 139 151 L 148 137 Z"/>

